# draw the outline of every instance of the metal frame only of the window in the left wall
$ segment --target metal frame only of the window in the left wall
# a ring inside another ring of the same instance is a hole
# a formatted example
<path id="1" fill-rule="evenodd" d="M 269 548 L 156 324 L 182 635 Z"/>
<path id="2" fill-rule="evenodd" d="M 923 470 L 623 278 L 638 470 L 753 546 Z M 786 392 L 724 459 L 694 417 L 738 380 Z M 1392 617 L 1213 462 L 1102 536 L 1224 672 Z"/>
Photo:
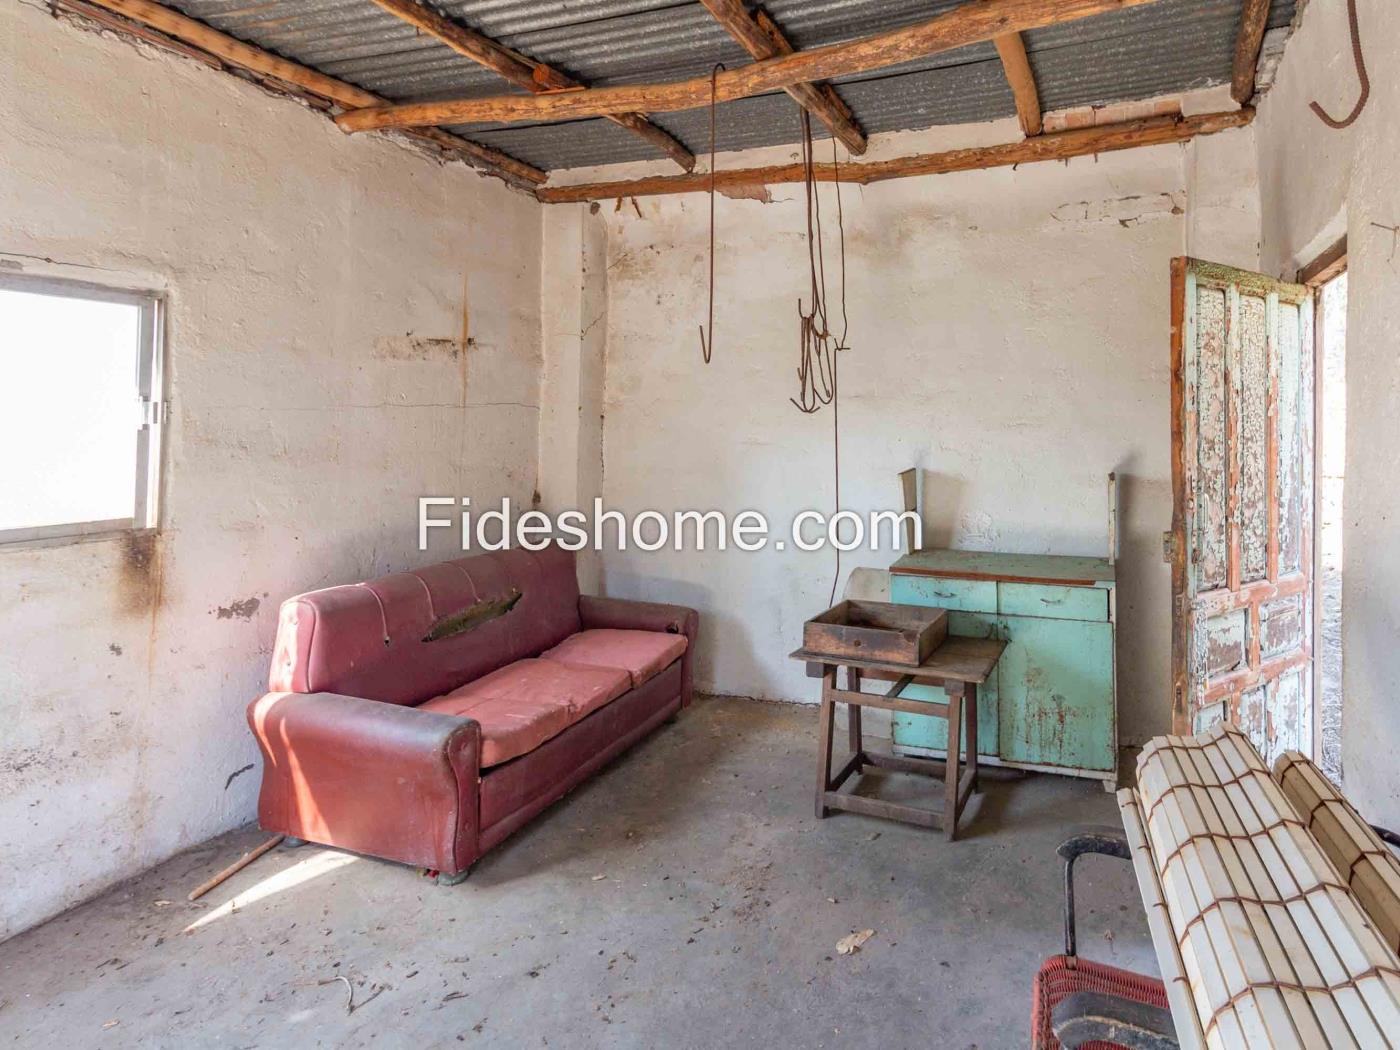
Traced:
<path id="1" fill-rule="evenodd" d="M 136 398 L 140 409 L 140 426 L 136 430 L 136 491 L 132 517 L 0 529 L 0 549 L 17 545 L 76 543 L 154 531 L 160 524 L 161 451 L 167 419 L 164 295 L 158 291 L 24 273 L 0 273 L 0 288 L 98 302 L 123 302 L 136 307 L 139 311 Z"/>

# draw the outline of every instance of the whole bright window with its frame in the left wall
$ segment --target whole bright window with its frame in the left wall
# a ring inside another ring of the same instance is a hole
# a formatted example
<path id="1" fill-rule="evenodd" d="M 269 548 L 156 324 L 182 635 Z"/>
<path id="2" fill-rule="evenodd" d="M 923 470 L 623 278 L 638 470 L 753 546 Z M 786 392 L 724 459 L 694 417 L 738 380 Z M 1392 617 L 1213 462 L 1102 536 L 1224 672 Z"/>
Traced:
<path id="1" fill-rule="evenodd" d="M 0 276 L 0 543 L 155 526 L 161 304 Z"/>

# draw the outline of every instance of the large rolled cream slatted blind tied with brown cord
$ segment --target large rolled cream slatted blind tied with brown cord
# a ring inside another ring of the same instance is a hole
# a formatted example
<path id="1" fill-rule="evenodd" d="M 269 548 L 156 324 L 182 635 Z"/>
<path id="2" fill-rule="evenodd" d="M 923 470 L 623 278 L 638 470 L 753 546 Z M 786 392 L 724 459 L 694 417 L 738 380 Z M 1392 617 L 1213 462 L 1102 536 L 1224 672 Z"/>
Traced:
<path id="1" fill-rule="evenodd" d="M 1320 792 L 1296 763 L 1282 776 L 1298 798 L 1305 784 Z M 1156 882 L 1144 899 L 1149 921 L 1158 913 L 1154 939 L 1170 938 L 1158 955 L 1183 1046 L 1400 1046 L 1400 956 L 1309 827 L 1344 843 L 1350 806 L 1313 805 L 1305 819 L 1224 724 L 1152 741 L 1137 790 L 1119 798 L 1140 882 Z M 1358 841 L 1337 855 L 1385 872 Z"/>

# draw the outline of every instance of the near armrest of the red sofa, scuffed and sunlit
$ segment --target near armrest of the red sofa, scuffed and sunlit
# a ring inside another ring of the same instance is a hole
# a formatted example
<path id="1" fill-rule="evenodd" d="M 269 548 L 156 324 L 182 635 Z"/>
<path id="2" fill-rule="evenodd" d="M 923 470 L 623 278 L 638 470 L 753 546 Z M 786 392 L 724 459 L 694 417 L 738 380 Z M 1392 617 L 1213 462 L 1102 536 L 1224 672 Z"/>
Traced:
<path id="1" fill-rule="evenodd" d="M 482 727 L 339 693 L 248 707 L 272 832 L 455 874 L 476 858 Z"/>

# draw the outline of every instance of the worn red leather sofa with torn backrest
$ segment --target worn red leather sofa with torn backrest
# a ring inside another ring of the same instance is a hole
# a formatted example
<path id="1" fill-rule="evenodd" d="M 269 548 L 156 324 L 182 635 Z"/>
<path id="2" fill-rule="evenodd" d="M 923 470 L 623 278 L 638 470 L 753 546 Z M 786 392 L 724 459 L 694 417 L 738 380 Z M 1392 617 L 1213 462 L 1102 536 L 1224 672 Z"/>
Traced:
<path id="1" fill-rule="evenodd" d="M 272 832 L 455 881 L 690 703 L 696 613 L 503 550 L 290 598 L 248 707 Z"/>

